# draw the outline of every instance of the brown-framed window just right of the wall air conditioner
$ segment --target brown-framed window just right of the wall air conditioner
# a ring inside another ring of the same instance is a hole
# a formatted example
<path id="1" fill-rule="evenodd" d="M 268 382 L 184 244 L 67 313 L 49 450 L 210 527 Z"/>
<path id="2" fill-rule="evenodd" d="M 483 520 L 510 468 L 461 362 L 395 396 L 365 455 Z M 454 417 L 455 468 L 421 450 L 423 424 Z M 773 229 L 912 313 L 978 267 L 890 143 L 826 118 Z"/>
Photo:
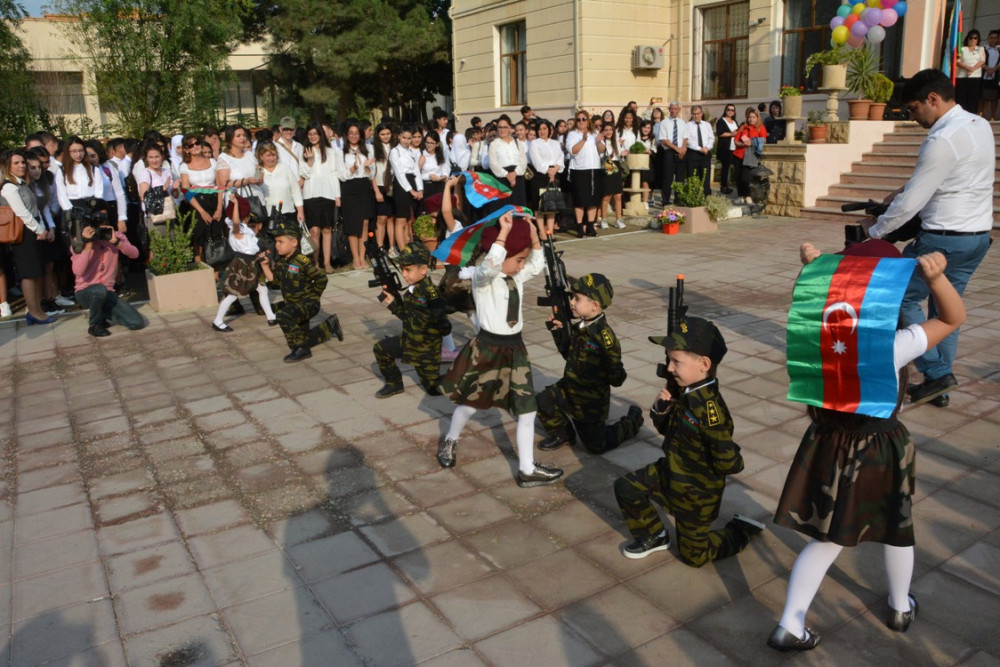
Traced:
<path id="1" fill-rule="evenodd" d="M 747 96 L 749 17 L 749 2 L 703 11 L 701 99 Z"/>

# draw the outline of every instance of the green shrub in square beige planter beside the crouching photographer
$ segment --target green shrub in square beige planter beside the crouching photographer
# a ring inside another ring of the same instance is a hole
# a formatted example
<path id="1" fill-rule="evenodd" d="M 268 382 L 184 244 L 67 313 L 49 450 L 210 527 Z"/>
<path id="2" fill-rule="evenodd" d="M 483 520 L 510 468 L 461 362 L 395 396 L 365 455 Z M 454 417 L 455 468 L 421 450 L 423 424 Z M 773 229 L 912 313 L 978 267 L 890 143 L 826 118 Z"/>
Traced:
<path id="1" fill-rule="evenodd" d="M 191 232 L 194 213 L 167 220 L 162 229 L 151 225 L 146 286 L 149 305 L 158 313 L 215 306 L 215 272 L 208 264 L 194 261 Z"/>

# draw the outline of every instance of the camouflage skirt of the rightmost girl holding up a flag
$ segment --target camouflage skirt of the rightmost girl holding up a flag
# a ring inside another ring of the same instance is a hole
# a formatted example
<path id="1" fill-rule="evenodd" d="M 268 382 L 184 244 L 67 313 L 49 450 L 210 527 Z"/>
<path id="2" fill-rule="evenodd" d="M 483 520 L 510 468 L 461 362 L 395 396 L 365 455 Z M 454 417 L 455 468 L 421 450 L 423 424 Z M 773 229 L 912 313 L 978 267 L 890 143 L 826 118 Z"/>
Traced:
<path id="1" fill-rule="evenodd" d="M 824 542 L 913 546 L 916 448 L 906 427 L 848 431 L 813 421 L 785 479 L 774 522 Z"/>

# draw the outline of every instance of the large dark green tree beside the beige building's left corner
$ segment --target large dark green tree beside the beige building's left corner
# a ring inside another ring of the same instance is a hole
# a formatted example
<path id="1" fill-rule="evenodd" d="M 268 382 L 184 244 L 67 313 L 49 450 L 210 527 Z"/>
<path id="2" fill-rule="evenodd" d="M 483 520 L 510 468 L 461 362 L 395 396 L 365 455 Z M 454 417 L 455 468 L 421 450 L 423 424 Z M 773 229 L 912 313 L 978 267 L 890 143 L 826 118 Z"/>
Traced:
<path id="1" fill-rule="evenodd" d="M 313 119 L 334 108 L 339 119 L 370 106 L 388 113 L 451 89 L 449 30 L 423 0 L 273 6 L 271 70 L 286 104 Z"/>

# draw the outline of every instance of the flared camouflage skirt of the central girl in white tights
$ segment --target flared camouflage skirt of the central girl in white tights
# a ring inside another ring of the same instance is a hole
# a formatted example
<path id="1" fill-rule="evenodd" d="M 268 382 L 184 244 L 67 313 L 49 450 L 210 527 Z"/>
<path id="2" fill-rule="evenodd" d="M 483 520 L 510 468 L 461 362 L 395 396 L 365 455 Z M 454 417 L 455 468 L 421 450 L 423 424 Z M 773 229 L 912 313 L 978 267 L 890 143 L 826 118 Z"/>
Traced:
<path id="1" fill-rule="evenodd" d="M 538 409 L 531 363 L 519 333 L 480 331 L 441 378 L 441 388 L 455 403 L 477 410 L 495 406 L 517 416 Z"/>

